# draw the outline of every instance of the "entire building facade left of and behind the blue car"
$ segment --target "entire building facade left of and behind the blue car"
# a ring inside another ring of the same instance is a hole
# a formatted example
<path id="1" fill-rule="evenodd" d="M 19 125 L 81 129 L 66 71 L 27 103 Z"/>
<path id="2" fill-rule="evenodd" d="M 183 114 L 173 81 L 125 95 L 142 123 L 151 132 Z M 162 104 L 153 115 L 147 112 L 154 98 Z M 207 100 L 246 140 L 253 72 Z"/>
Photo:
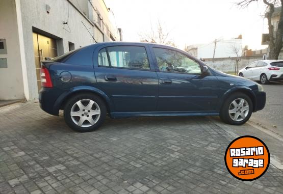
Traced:
<path id="1" fill-rule="evenodd" d="M 103 0 L 0 1 L 0 100 L 37 99 L 40 60 L 120 37 Z"/>

